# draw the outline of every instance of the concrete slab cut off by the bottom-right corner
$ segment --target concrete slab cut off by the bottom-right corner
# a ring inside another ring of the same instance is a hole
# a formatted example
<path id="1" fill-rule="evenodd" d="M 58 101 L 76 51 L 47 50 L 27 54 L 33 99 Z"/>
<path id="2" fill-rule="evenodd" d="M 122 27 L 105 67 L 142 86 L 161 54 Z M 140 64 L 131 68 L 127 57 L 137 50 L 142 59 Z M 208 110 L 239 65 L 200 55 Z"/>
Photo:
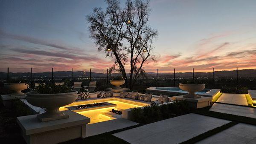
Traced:
<path id="1" fill-rule="evenodd" d="M 197 144 L 255 144 L 256 126 L 239 123 L 222 132 L 212 135 Z"/>

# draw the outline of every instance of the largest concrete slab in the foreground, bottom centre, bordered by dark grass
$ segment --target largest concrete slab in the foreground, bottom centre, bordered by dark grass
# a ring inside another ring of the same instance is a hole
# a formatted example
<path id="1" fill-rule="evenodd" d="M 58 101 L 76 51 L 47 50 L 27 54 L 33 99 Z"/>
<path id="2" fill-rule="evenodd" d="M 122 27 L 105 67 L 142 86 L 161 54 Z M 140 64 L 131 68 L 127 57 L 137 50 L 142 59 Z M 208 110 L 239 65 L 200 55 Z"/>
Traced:
<path id="1" fill-rule="evenodd" d="M 216 121 L 216 122 L 212 122 Z M 181 115 L 115 133 L 131 144 L 177 144 L 230 121 L 198 114 Z"/>

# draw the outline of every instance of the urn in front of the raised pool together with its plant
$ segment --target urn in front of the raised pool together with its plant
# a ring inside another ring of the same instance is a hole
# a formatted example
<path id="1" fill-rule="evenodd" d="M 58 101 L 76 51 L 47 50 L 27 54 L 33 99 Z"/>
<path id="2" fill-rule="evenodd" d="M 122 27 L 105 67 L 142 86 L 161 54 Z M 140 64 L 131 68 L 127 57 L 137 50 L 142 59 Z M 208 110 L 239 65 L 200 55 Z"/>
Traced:
<path id="1" fill-rule="evenodd" d="M 205 88 L 205 84 L 198 80 L 186 80 L 179 84 L 180 89 L 189 92 L 187 95 L 183 95 L 183 98 L 200 98 L 200 95 L 196 95 L 195 92 L 201 91 Z"/>

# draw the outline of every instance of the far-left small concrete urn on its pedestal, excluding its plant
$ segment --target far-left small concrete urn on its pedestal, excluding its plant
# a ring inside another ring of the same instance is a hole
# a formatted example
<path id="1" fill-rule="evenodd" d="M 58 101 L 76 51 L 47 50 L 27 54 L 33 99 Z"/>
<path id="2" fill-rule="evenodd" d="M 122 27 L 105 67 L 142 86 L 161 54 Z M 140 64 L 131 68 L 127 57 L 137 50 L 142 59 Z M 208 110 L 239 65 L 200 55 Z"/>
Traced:
<path id="1" fill-rule="evenodd" d="M 13 91 L 13 93 L 11 93 L 11 96 L 20 96 L 20 95 L 25 95 L 23 92 L 21 92 L 23 89 L 27 89 L 27 84 L 25 83 L 20 83 L 20 84 L 9 84 L 9 83 L 5 83 L 4 87 L 6 89 L 9 89 L 11 91 Z"/>

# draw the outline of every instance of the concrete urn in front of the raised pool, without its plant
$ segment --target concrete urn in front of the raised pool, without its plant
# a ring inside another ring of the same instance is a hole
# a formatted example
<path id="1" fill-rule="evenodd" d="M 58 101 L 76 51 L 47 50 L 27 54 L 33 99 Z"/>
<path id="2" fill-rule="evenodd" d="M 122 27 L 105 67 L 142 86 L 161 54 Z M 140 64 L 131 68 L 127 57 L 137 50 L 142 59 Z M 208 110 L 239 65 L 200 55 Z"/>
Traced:
<path id="1" fill-rule="evenodd" d="M 200 98 L 200 95 L 196 95 L 195 92 L 201 91 L 205 88 L 205 84 L 179 84 L 180 89 L 189 92 L 187 95 L 183 95 L 183 98 Z"/>

